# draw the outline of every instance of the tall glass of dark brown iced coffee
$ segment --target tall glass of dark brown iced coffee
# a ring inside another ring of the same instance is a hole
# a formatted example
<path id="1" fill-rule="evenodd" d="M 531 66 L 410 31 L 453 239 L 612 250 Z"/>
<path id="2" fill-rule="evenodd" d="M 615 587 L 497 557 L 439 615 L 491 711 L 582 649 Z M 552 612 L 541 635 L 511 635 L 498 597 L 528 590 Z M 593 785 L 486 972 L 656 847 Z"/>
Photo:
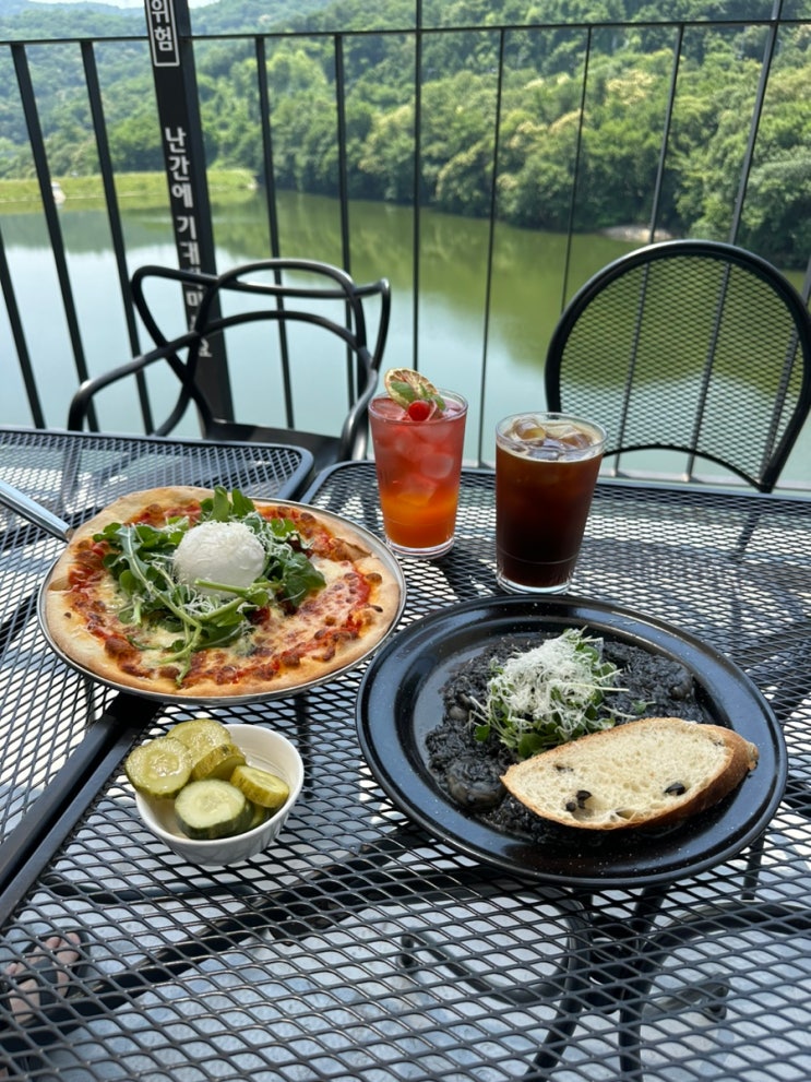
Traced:
<path id="1" fill-rule="evenodd" d="M 592 506 L 606 433 L 564 414 L 514 414 L 496 429 L 496 563 L 506 590 L 560 593 Z"/>

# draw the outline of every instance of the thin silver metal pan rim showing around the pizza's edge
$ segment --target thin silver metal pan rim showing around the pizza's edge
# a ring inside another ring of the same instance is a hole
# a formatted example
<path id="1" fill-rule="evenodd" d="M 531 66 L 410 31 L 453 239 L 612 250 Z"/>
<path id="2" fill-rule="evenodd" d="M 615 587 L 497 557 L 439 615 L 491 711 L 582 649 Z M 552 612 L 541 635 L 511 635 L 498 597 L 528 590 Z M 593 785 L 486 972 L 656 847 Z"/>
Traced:
<path id="1" fill-rule="evenodd" d="M 115 688 L 117 691 L 127 691 L 130 692 L 131 694 L 138 694 L 146 699 L 159 700 L 162 702 L 192 703 L 200 706 L 238 705 L 239 703 L 265 702 L 271 699 L 281 699 L 284 697 L 294 695 L 300 691 L 306 691 L 308 688 L 315 687 L 319 683 L 324 683 L 326 680 L 333 680 L 335 679 L 335 677 L 341 676 L 342 673 L 346 673 L 349 669 L 355 668 L 357 665 L 360 665 L 361 662 L 366 661 L 370 656 L 370 654 L 374 653 L 374 651 L 381 646 L 381 644 L 391 634 L 392 630 L 396 627 L 401 616 L 403 615 L 403 608 L 405 606 L 405 599 L 406 599 L 406 583 L 405 583 L 405 576 L 403 575 L 403 569 L 401 568 L 396 558 L 379 537 L 377 537 L 370 531 L 366 530 L 363 526 L 357 525 L 357 523 L 353 522 L 350 519 L 344 519 L 341 515 L 333 514 L 331 511 L 322 511 L 321 508 L 313 508 L 306 503 L 296 503 L 291 500 L 263 500 L 262 498 L 257 497 L 257 502 L 273 503 L 275 507 L 289 507 L 289 508 L 297 508 L 302 511 L 310 511 L 313 514 L 315 514 L 320 520 L 325 522 L 326 525 L 330 526 L 330 528 L 335 531 L 336 533 L 339 533 L 342 527 L 351 531 L 351 533 L 355 534 L 355 536 L 357 536 L 358 538 L 360 538 L 360 540 L 368 547 L 369 551 L 381 561 L 381 563 L 385 567 L 386 571 L 392 575 L 394 581 L 397 583 L 399 599 L 396 610 L 393 613 L 392 619 L 389 626 L 386 627 L 383 635 L 380 639 L 377 639 L 373 643 L 371 643 L 369 649 L 362 655 L 358 657 L 354 657 L 346 665 L 339 666 L 338 668 L 334 668 L 330 673 L 325 673 L 323 676 L 317 677 L 314 679 L 302 680 L 300 683 L 288 686 L 282 689 L 275 689 L 272 685 L 269 685 L 266 691 L 254 690 L 250 694 L 238 694 L 238 693 L 235 694 L 232 690 L 224 688 L 222 695 L 202 697 L 202 695 L 189 694 L 188 692 L 183 692 L 182 689 L 179 689 L 178 692 L 175 694 L 175 693 L 168 693 L 166 691 L 153 692 L 150 691 L 148 688 L 131 687 L 130 685 L 121 683 L 116 680 L 109 679 L 104 675 L 99 675 L 98 673 L 95 673 L 90 666 L 82 665 L 81 663 L 76 662 L 59 646 L 59 644 L 51 635 L 48 629 L 48 621 L 46 619 L 46 614 L 45 614 L 45 597 L 48 592 L 48 586 L 50 584 L 53 570 L 56 568 L 56 562 L 55 562 L 55 568 L 51 569 L 50 573 L 47 575 L 45 582 L 43 583 L 39 590 L 39 596 L 37 601 L 37 615 L 39 618 L 39 626 L 43 629 L 43 633 L 50 649 L 59 657 L 61 657 L 62 661 L 65 662 L 65 664 L 70 665 L 71 668 L 75 669 L 79 673 L 82 673 L 84 676 L 87 676 L 93 680 L 98 681 L 99 683 L 104 683 L 109 688 Z"/>

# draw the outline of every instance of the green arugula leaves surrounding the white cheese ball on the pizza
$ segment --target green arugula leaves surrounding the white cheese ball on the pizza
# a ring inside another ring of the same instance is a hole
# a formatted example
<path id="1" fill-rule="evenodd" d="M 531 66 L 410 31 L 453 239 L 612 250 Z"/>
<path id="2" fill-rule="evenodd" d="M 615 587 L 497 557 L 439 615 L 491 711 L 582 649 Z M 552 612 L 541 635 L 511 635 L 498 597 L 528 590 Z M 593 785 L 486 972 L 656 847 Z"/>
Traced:
<path id="1" fill-rule="evenodd" d="M 290 519 L 265 519 L 238 489 L 229 498 L 222 486 L 202 501 L 201 508 L 201 522 L 242 522 L 261 542 L 265 564 L 249 586 L 202 580 L 188 585 L 175 578 L 175 551 L 191 525 L 186 516 L 172 518 L 164 526 L 114 522 L 95 535 L 96 540 L 107 542 L 105 567 L 126 595 L 118 613 L 121 622 L 163 628 L 177 635 L 162 663 L 178 667 L 178 683 L 189 671 L 195 651 L 240 639 L 251 627 L 252 613 L 274 599 L 297 608 L 310 591 L 324 585 Z M 201 587 L 220 593 L 210 594 Z M 128 638 L 139 649 L 148 649 L 138 631 Z"/>

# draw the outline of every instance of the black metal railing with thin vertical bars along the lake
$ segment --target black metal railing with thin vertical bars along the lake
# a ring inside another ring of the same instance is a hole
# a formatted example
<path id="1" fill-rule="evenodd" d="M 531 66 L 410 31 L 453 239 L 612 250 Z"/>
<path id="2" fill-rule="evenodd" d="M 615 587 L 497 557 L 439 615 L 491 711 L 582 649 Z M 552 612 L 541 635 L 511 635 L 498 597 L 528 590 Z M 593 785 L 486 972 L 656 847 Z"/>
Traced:
<path id="1" fill-rule="evenodd" d="M 502 107 L 502 94 L 504 92 L 504 86 L 510 78 L 511 71 L 506 61 L 506 44 L 518 33 L 532 33 L 532 34 L 552 34 L 560 33 L 561 31 L 566 31 L 572 34 L 576 34 L 579 40 L 582 43 L 582 50 L 579 53 L 579 64 L 577 67 L 582 71 L 582 84 L 580 87 L 580 105 L 575 110 L 577 115 L 577 132 L 575 140 L 575 153 L 573 159 L 573 170 L 571 177 L 571 200 L 570 200 L 570 212 L 569 212 L 569 223 L 565 237 L 565 245 L 563 247 L 563 254 L 561 257 L 562 265 L 560 266 L 560 282 L 562 284 L 560 305 L 561 308 L 565 299 L 571 296 L 572 292 L 580 286 L 582 283 L 573 278 L 572 267 L 571 267 L 571 253 L 573 245 L 575 243 L 577 236 L 577 225 L 579 225 L 579 190 L 581 186 L 581 170 L 582 170 L 582 156 L 581 151 L 583 146 L 584 136 L 584 120 L 586 116 L 586 93 L 588 86 L 589 76 L 589 62 L 593 57 L 594 50 L 597 48 L 597 41 L 605 41 L 606 38 L 611 36 L 622 36 L 629 33 L 634 34 L 657 34 L 659 37 L 670 43 L 671 59 L 667 66 L 668 71 L 664 79 L 667 80 L 667 107 L 665 114 L 665 122 L 663 124 L 661 131 L 658 135 L 659 138 L 659 153 L 658 153 L 658 166 L 656 169 L 656 175 L 652 177 L 651 190 L 646 195 L 646 202 L 649 206 L 649 217 L 646 223 L 644 223 L 644 228 L 641 234 L 641 239 L 654 239 L 657 235 L 657 230 L 660 225 L 661 216 L 661 205 L 663 205 L 663 192 L 668 178 L 668 169 L 670 166 L 671 157 L 677 152 L 673 150 L 672 141 L 672 122 L 676 109 L 676 103 L 678 100 L 679 90 L 681 87 L 681 75 L 682 68 L 680 64 L 684 37 L 687 34 L 709 34 L 717 33 L 719 29 L 725 27 L 740 27 L 741 23 L 732 22 L 720 22 L 720 23 L 687 23 L 680 21 L 672 21 L 663 19 L 657 23 L 594 23 L 594 24 L 570 24 L 562 27 L 558 24 L 544 24 L 544 23 L 533 23 L 529 25 L 473 25 L 473 26 L 433 26 L 424 25 L 422 19 L 422 5 L 417 3 L 415 7 L 415 23 L 414 25 L 404 27 L 386 27 L 380 31 L 323 31 L 318 34 L 305 33 L 302 31 L 290 31 L 290 32 L 274 32 L 274 33 L 262 33 L 253 35 L 223 35 L 223 36 L 205 36 L 205 35 L 193 35 L 186 24 L 186 17 L 188 16 L 188 9 L 186 8 L 186 0 L 172 0 L 174 9 L 179 11 L 181 17 L 177 23 L 178 31 L 178 43 L 180 48 L 180 62 L 182 64 L 191 64 L 191 70 L 184 72 L 183 78 L 186 79 L 187 86 L 194 86 L 194 71 L 193 71 L 193 56 L 194 51 L 200 51 L 207 47 L 208 45 L 219 45 L 222 47 L 235 47 L 242 51 L 245 55 L 252 55 L 255 61 L 257 71 L 257 97 L 253 107 L 259 116 L 259 127 L 262 132 L 262 160 L 263 169 L 266 178 L 266 183 L 263 187 L 264 197 L 266 200 L 266 215 L 270 228 L 271 237 L 271 252 L 269 254 L 283 254 L 281 250 L 279 240 L 279 211 L 278 211 L 278 190 L 274 182 L 276 176 L 276 163 L 274 162 L 274 144 L 273 144 L 273 131 L 274 131 L 274 106 L 275 103 L 269 93 L 267 79 L 265 75 L 266 64 L 269 60 L 269 50 L 276 48 L 279 41 L 299 41 L 306 44 L 308 41 L 320 41 L 321 44 L 329 43 L 330 49 L 333 57 L 332 64 L 332 91 L 334 94 L 335 103 L 335 141 L 337 145 L 337 180 L 336 180 L 336 199 L 339 204 L 339 219 L 341 219 L 341 247 L 342 247 L 342 260 L 343 265 L 351 271 L 353 258 L 354 258 L 354 245 L 355 238 L 353 235 L 353 228 L 350 224 L 350 195 L 349 193 L 354 189 L 354 177 L 353 169 L 355 168 L 355 163 L 348 153 L 348 134 L 347 134 L 347 119 L 346 119 L 346 103 L 349 95 L 349 86 L 346 74 L 346 63 L 345 58 L 348 50 L 351 49 L 353 44 L 361 36 L 368 36 L 370 33 L 379 34 L 381 37 L 397 35 L 402 38 L 407 38 L 409 45 L 413 46 L 413 91 L 412 91 L 412 107 L 414 110 L 414 144 L 413 144 L 413 160 L 414 160 L 414 179 L 413 179 L 413 191 L 410 198 L 410 205 L 413 210 L 413 234 L 412 234 L 412 246 L 413 246 L 413 310 L 410 313 L 410 335 L 412 335 L 412 364 L 414 367 L 420 367 L 419 357 L 419 342 L 420 342 L 420 276 L 426 266 L 426 253 L 421 250 L 421 221 L 425 213 L 424 200 L 420 197 L 421 191 L 421 173 L 424 164 L 425 147 L 422 144 L 424 139 L 424 50 L 427 48 L 429 41 L 433 41 L 440 35 L 461 35 L 464 34 L 467 39 L 470 36 L 479 35 L 484 39 L 487 37 L 488 41 L 496 39 L 498 41 L 498 70 L 494 74 L 494 86 L 496 86 L 496 108 L 493 110 L 493 127 L 490 133 L 490 144 L 492 147 L 491 160 L 489 164 L 489 243 L 488 243 L 488 254 L 487 254 L 487 269 L 486 269 L 486 286 L 484 289 L 484 311 L 481 319 L 481 381 L 480 381 L 480 393 L 484 397 L 488 394 L 488 357 L 490 348 L 490 316 L 491 316 L 491 302 L 492 302 L 492 284 L 494 274 L 494 235 L 496 226 L 499 221 L 499 170 L 500 170 L 500 154 L 503 151 L 503 140 L 504 133 L 500 129 L 501 122 L 501 107 Z M 154 4 L 153 4 L 154 7 Z M 147 11 L 150 4 L 146 5 Z M 787 28 L 794 28 L 797 26 L 811 26 L 808 21 L 796 20 L 784 17 L 783 15 L 783 3 L 780 0 L 776 0 L 774 11 L 770 19 L 764 20 L 752 20 L 748 21 L 747 26 L 751 26 L 762 34 L 762 59 L 760 63 L 758 84 L 754 87 L 752 95 L 752 107 L 751 115 L 748 117 L 748 136 L 747 144 L 743 150 L 743 154 L 740 162 L 740 171 L 736 183 L 736 194 L 734 197 L 734 205 L 729 209 L 729 233 L 727 236 L 719 238 L 736 242 L 739 236 L 739 230 L 741 222 L 744 218 L 747 210 L 747 194 L 748 185 L 751 177 L 753 168 L 753 158 L 755 154 L 755 147 L 758 145 L 758 134 L 764 116 L 764 110 L 768 108 L 768 99 L 766 90 L 768 86 L 770 74 L 773 70 L 775 63 L 775 56 L 780 40 L 780 34 Z M 143 35 L 135 35 L 134 39 L 145 40 Z M 104 192 L 104 202 L 106 207 L 106 214 L 109 222 L 110 229 L 110 241 L 114 252 L 116 274 L 118 278 L 118 289 L 120 292 L 121 305 L 124 312 L 127 335 L 129 337 L 129 345 L 133 354 L 141 352 L 144 343 L 141 342 L 141 329 L 135 319 L 132 297 L 129 285 L 129 266 L 128 266 L 128 248 L 126 240 L 126 231 L 122 224 L 121 206 L 119 198 L 117 195 L 116 180 L 117 174 L 114 164 L 114 156 L 110 151 L 109 144 L 109 131 L 108 123 L 105 118 L 105 103 L 104 95 L 102 92 L 102 86 L 99 82 L 99 71 L 98 71 L 98 50 L 104 45 L 104 48 L 110 48 L 115 46 L 118 41 L 120 44 L 131 44 L 133 38 L 99 38 L 99 39 L 59 39 L 53 41 L 41 41 L 41 40 L 15 40 L 0 43 L 0 51 L 4 50 L 13 64 L 16 87 L 20 95 L 20 107 L 23 111 L 25 118 L 25 124 L 28 131 L 31 155 L 34 171 L 38 181 L 39 192 L 41 197 L 41 203 L 44 209 L 45 226 L 47 229 L 47 236 L 49 239 L 53 264 L 57 272 L 57 286 L 58 296 L 44 297 L 43 307 L 45 311 L 56 312 L 61 311 L 64 316 L 64 321 L 68 329 L 68 335 L 70 340 L 70 348 L 72 357 L 70 358 L 70 364 L 73 366 L 75 371 L 76 381 L 83 380 L 90 373 L 88 359 L 85 353 L 85 334 L 82 326 L 82 320 L 79 316 L 79 305 L 76 298 L 76 285 L 71 280 L 71 274 L 69 271 L 69 260 L 65 251 L 65 242 L 62 234 L 62 227 L 60 223 L 60 215 L 58 213 L 57 203 L 55 201 L 53 191 L 51 188 L 51 168 L 49 165 L 48 155 L 48 139 L 43 131 L 41 123 L 41 109 L 40 102 L 34 90 L 34 83 L 32 80 L 31 72 L 31 53 L 32 50 L 41 50 L 47 48 L 72 46 L 80 50 L 82 72 L 84 79 L 84 90 L 86 92 L 87 109 L 91 117 L 93 126 L 93 138 L 95 141 L 95 147 L 98 158 L 98 171 L 100 174 L 102 187 Z M 194 51 L 193 51 L 194 50 Z M 143 63 L 145 69 L 151 67 L 151 60 L 147 50 L 143 50 Z M 154 69 L 153 69 L 154 73 Z M 191 82 L 189 82 L 191 80 Z M 162 110 L 168 108 L 168 104 L 164 100 L 162 102 L 162 94 L 165 96 L 167 93 L 166 88 L 162 90 L 159 81 L 155 80 L 156 88 L 156 111 L 158 116 L 162 116 Z M 50 87 L 50 93 L 59 93 L 59 87 Z M 191 121 L 195 123 L 204 123 L 204 120 L 200 120 L 199 109 L 195 108 L 191 111 Z M 204 144 L 204 131 L 195 131 L 190 133 L 192 141 L 200 147 Z M 163 139 L 163 134 L 156 131 L 156 141 Z M 198 159 L 192 163 L 192 168 L 194 171 L 194 179 L 198 182 L 202 182 L 200 190 L 205 192 L 205 163 Z M 205 199 L 202 200 L 202 205 L 199 210 L 202 210 L 206 215 L 210 216 L 210 210 Z M 172 215 L 172 207 L 169 202 L 166 206 L 167 216 Z M 620 223 L 617 223 L 619 225 Z M 178 262 L 182 264 L 183 259 L 189 263 L 188 251 L 182 248 L 182 242 L 184 239 L 181 236 L 181 229 L 178 226 L 177 215 L 175 215 L 175 238 L 177 242 L 178 250 Z M 203 221 L 195 226 L 200 228 L 206 236 L 211 235 L 211 221 Z M 186 255 L 183 254 L 186 252 Z M 811 289 L 811 252 L 808 253 L 808 272 L 804 275 L 804 285 L 802 286 L 804 292 L 804 298 L 808 300 L 809 290 Z M 192 264 L 193 265 L 193 264 Z M 204 267 L 211 270 L 212 267 Z M 5 249 L 3 245 L 2 237 L 2 214 L 0 213 L 0 286 L 2 287 L 2 293 L 5 301 L 5 310 L 8 316 L 8 323 L 10 328 L 10 335 L 14 344 L 16 357 L 13 358 L 14 362 L 19 366 L 19 370 L 22 377 L 22 381 L 25 387 L 25 394 L 27 399 L 27 405 L 29 409 L 29 423 L 37 427 L 47 427 L 49 424 L 60 424 L 61 418 L 49 418 L 46 415 L 46 409 L 43 405 L 43 390 L 37 379 L 36 365 L 31 355 L 28 342 L 26 338 L 25 329 L 23 321 L 20 317 L 20 310 L 16 301 L 16 290 L 15 283 L 13 281 L 13 275 L 9 267 L 9 262 L 5 254 Z M 545 348 L 544 343 L 538 344 L 539 352 Z M 118 361 L 122 358 L 116 358 Z M 65 364 L 69 359 L 65 358 Z M 5 364 L 9 364 L 7 358 Z M 148 394 L 144 388 L 142 388 L 142 401 L 140 404 L 141 414 L 148 418 L 150 413 L 150 402 Z M 67 416 L 67 402 L 64 404 L 63 415 Z M 480 418 L 485 416 L 485 409 L 481 408 Z M 13 420 L 13 418 L 7 418 L 8 420 Z M 23 423 L 25 423 L 23 420 Z M 484 421 L 479 420 L 479 426 Z M 133 423 L 133 430 L 138 425 Z M 481 456 L 481 427 L 479 428 L 479 457 Z"/>

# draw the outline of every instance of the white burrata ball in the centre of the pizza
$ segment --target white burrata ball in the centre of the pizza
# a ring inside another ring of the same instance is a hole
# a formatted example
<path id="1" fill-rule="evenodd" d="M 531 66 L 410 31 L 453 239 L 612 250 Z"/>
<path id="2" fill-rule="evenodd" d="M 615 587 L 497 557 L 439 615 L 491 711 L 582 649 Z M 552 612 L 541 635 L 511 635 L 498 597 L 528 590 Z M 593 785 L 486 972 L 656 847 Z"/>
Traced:
<path id="1" fill-rule="evenodd" d="M 186 533 L 175 551 L 175 578 L 187 586 L 198 579 L 224 586 L 250 586 L 265 563 L 262 542 L 242 522 L 201 522 Z M 201 593 L 227 597 L 227 591 L 198 586 Z"/>

